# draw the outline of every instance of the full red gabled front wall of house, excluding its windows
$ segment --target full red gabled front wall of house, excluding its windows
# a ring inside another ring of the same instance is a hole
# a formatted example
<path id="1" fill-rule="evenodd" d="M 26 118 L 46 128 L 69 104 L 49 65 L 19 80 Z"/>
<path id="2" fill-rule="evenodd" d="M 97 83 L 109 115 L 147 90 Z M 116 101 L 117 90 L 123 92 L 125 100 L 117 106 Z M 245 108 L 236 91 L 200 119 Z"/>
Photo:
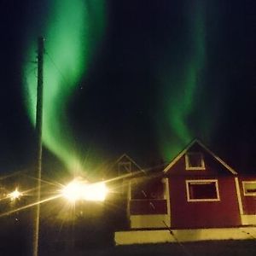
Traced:
<path id="1" fill-rule="evenodd" d="M 186 170 L 185 154 L 169 169 L 171 226 L 177 229 L 218 228 L 241 225 L 241 214 L 234 174 L 203 148 L 204 170 Z M 189 152 L 188 151 L 188 152 Z M 186 180 L 212 180 L 218 183 L 218 200 L 188 201 Z"/>

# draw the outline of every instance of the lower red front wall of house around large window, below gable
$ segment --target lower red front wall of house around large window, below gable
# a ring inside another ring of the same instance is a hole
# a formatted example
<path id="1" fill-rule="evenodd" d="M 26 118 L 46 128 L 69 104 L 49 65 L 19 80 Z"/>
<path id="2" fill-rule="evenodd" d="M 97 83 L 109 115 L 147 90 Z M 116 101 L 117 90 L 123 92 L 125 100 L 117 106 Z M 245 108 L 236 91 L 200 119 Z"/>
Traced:
<path id="1" fill-rule="evenodd" d="M 196 179 L 216 177 L 196 177 Z M 170 177 L 171 226 L 175 229 L 232 227 L 241 224 L 234 177 L 218 177 L 219 201 L 188 201 L 186 179 Z"/>

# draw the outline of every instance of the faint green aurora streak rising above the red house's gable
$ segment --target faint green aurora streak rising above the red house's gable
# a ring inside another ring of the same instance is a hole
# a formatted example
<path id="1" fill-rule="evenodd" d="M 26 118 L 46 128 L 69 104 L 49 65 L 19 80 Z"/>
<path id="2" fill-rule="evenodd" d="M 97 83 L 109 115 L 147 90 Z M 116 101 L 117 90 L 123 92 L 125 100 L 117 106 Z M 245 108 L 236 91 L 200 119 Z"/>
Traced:
<path id="1" fill-rule="evenodd" d="M 189 118 L 195 110 L 206 59 L 204 2 L 188 1 L 185 8 L 183 38 L 174 47 L 172 44 L 172 48 L 176 49 L 172 49 L 166 60 L 169 69 L 163 67 L 160 71 L 160 84 L 164 88 L 160 98 L 163 109 L 159 125 L 160 149 L 166 160 L 197 137 L 189 127 Z M 168 65 L 168 61 L 172 65 Z M 177 63 L 173 63 L 175 61 Z M 201 124 L 200 120 L 196 121 Z"/>

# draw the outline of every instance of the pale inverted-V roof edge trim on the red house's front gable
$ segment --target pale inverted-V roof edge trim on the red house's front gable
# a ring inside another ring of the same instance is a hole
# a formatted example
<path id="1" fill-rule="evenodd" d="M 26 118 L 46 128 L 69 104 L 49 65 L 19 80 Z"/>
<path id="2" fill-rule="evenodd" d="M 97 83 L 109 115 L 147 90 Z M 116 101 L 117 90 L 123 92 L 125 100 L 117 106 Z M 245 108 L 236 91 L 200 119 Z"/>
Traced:
<path id="1" fill-rule="evenodd" d="M 218 157 L 218 155 L 214 154 L 209 148 L 207 148 L 207 147 L 206 147 L 203 143 L 201 143 L 201 141 L 199 141 L 198 139 L 195 139 L 195 140 L 193 140 L 191 143 L 189 143 L 189 145 L 188 145 L 186 148 L 184 148 L 183 151 L 182 151 L 180 154 L 178 154 L 178 155 L 171 161 L 171 163 L 170 163 L 168 166 L 166 166 L 166 168 L 164 169 L 163 172 L 164 172 L 164 173 L 168 172 L 168 171 L 170 170 L 170 168 L 171 168 L 172 166 L 174 166 L 174 165 L 177 163 L 177 160 L 179 160 L 184 154 L 186 154 L 186 152 L 189 150 L 189 148 L 191 148 L 193 145 L 195 145 L 195 143 L 198 143 L 198 144 L 201 146 L 201 148 L 204 148 L 204 149 L 207 151 L 207 153 L 211 154 L 212 157 L 213 157 L 215 160 L 217 160 L 222 166 L 224 166 L 224 167 L 225 167 L 228 171 L 230 171 L 232 174 L 234 174 L 234 175 L 237 174 L 237 172 L 236 172 L 232 167 L 230 167 L 228 164 L 226 164 L 226 163 L 224 162 L 224 160 L 220 159 L 220 158 Z"/>

